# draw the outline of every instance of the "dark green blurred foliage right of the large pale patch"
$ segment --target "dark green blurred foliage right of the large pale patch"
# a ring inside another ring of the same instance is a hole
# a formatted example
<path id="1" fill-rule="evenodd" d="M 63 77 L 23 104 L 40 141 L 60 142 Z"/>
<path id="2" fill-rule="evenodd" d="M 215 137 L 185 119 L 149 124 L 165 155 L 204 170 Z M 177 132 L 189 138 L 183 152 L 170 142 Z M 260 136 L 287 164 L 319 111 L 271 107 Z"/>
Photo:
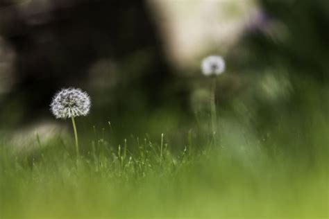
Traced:
<path id="1" fill-rule="evenodd" d="M 328 3 L 262 0 L 260 6 L 229 66 L 248 81 L 243 99 L 253 104 L 249 114 L 260 130 L 280 121 L 282 129 L 299 126 L 309 121 L 310 105 L 328 111 Z"/>

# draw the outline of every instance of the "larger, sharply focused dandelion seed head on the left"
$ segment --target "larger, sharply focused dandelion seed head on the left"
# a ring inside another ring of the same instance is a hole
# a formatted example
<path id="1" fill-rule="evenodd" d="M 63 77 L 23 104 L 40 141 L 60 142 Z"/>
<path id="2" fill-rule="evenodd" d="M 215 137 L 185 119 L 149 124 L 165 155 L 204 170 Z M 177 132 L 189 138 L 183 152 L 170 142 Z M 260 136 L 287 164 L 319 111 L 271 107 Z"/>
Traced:
<path id="1" fill-rule="evenodd" d="M 73 87 L 58 91 L 50 105 L 56 119 L 87 116 L 90 106 L 90 96 L 85 91 Z"/>

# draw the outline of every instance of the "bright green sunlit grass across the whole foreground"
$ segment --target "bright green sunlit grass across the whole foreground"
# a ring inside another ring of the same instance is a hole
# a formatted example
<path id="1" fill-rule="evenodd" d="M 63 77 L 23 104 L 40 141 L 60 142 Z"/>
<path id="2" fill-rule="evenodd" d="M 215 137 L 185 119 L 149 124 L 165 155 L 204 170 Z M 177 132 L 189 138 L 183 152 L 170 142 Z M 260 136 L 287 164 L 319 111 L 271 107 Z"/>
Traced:
<path id="1" fill-rule="evenodd" d="M 1 218 L 328 216 L 325 160 L 269 157 L 250 140 L 176 154 L 166 144 L 163 157 L 160 141 L 143 139 L 130 154 L 101 140 L 79 166 L 56 141 L 28 158 L 1 153 Z"/>

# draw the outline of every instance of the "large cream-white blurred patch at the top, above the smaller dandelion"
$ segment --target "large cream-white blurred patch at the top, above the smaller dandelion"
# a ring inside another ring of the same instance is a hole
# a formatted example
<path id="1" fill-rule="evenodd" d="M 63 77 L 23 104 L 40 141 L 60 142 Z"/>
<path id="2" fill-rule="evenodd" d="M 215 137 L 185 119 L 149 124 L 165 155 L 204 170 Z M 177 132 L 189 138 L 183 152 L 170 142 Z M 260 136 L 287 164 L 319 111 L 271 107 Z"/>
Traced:
<path id="1" fill-rule="evenodd" d="M 185 68 L 202 53 L 225 54 L 258 8 L 255 0 L 148 0 L 170 61 Z"/>

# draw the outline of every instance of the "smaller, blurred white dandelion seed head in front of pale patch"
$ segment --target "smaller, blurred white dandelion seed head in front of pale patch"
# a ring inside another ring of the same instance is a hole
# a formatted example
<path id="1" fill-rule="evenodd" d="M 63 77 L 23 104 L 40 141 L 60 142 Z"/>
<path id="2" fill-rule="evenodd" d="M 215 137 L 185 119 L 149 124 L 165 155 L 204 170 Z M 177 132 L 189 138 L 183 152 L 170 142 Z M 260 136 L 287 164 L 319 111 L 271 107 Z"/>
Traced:
<path id="1" fill-rule="evenodd" d="M 225 71 L 225 61 L 219 55 L 210 55 L 202 60 L 201 70 L 204 76 L 218 76 Z"/>

